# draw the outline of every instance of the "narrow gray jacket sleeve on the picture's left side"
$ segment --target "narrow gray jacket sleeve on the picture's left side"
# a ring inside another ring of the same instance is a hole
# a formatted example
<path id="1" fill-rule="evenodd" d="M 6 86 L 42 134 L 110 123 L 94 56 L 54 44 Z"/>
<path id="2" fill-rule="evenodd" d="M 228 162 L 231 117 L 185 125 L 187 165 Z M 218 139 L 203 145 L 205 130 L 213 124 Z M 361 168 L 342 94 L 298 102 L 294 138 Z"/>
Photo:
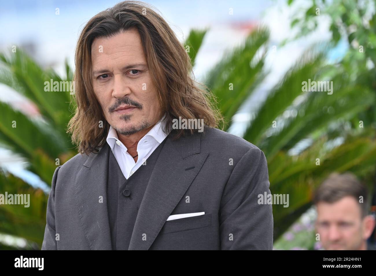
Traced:
<path id="1" fill-rule="evenodd" d="M 56 244 L 56 228 L 55 228 L 55 187 L 58 179 L 58 171 L 61 166 L 57 167 L 53 173 L 50 196 L 47 201 L 46 227 L 44 230 L 44 238 L 42 250 L 57 250 Z"/>

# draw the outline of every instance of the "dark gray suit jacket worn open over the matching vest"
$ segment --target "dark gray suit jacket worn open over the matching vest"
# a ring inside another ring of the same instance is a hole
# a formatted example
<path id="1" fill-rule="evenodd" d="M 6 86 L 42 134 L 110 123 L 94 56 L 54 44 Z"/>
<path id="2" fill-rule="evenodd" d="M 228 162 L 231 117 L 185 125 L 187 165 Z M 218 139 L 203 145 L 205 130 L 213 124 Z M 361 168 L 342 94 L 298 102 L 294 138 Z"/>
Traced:
<path id="1" fill-rule="evenodd" d="M 267 161 L 258 147 L 215 128 L 171 136 L 139 206 L 129 250 L 271 250 Z M 111 250 L 106 185 L 109 146 L 56 168 L 42 250 Z M 103 203 L 100 202 L 103 197 Z M 204 215 L 167 220 L 170 215 Z"/>

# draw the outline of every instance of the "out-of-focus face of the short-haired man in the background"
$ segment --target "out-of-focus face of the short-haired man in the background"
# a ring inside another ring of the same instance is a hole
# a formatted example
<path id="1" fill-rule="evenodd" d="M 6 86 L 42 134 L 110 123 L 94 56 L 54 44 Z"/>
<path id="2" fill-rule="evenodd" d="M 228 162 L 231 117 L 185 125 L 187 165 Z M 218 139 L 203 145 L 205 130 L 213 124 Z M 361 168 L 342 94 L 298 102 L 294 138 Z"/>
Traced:
<path id="1" fill-rule="evenodd" d="M 359 203 L 350 196 L 317 204 L 316 229 L 326 250 L 359 250 L 367 238 Z"/>

